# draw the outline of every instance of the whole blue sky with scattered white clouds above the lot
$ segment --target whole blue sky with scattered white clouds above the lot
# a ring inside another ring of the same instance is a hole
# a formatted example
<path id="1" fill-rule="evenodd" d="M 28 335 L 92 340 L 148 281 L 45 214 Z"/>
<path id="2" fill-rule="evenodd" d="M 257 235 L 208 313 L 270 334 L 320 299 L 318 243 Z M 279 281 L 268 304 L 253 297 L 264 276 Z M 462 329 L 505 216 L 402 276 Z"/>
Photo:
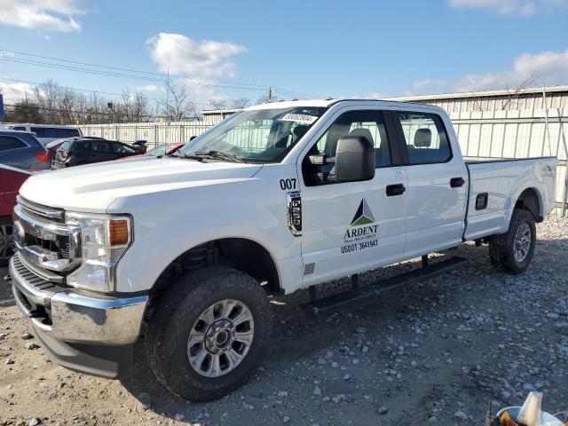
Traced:
<path id="1" fill-rule="evenodd" d="M 205 105 L 568 84 L 566 22 L 568 0 L 0 0 L 0 85 L 160 99 L 169 71 Z"/>

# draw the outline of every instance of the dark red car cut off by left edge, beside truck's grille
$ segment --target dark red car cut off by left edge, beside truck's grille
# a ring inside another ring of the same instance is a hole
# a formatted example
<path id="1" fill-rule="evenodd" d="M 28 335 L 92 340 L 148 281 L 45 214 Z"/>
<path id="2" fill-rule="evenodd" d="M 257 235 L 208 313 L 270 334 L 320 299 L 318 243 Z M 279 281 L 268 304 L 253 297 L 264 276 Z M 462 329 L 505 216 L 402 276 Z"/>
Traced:
<path id="1" fill-rule="evenodd" d="M 20 186 L 32 174 L 28 170 L 0 164 L 0 266 L 8 264 L 14 254 L 12 241 L 12 210 Z"/>

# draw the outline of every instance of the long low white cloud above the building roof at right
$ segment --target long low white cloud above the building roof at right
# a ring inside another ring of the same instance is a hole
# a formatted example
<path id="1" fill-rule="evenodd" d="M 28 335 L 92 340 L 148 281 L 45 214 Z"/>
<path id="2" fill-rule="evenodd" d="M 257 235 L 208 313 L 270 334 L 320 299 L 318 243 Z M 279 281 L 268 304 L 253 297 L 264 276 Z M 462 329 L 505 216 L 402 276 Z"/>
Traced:
<path id="1" fill-rule="evenodd" d="M 531 83 L 568 83 L 568 50 L 524 53 L 509 69 L 484 75 L 464 75 L 454 80 L 421 80 L 414 82 L 407 94 L 439 91 L 486 91 L 518 87 Z"/>

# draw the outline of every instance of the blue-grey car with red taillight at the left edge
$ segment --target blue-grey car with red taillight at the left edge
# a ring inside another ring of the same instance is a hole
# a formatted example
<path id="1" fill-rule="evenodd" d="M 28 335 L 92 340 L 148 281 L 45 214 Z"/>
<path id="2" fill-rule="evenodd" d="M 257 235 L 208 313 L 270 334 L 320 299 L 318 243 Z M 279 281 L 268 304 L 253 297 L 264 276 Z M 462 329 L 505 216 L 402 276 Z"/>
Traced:
<path id="1" fill-rule="evenodd" d="M 33 133 L 0 130 L 0 164 L 23 170 L 49 169 L 48 153 Z"/>

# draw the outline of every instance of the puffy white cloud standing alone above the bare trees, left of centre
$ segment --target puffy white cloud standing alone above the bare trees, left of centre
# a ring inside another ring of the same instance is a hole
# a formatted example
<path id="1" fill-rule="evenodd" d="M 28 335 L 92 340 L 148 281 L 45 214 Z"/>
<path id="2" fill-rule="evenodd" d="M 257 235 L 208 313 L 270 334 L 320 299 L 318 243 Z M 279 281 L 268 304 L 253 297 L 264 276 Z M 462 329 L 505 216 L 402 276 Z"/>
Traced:
<path id="1" fill-rule="evenodd" d="M 160 33 L 149 38 L 150 57 L 160 71 L 170 68 L 173 74 L 193 74 L 204 77 L 235 75 L 235 64 L 228 58 L 244 53 L 247 48 L 235 43 L 193 39 L 180 34 Z"/>

